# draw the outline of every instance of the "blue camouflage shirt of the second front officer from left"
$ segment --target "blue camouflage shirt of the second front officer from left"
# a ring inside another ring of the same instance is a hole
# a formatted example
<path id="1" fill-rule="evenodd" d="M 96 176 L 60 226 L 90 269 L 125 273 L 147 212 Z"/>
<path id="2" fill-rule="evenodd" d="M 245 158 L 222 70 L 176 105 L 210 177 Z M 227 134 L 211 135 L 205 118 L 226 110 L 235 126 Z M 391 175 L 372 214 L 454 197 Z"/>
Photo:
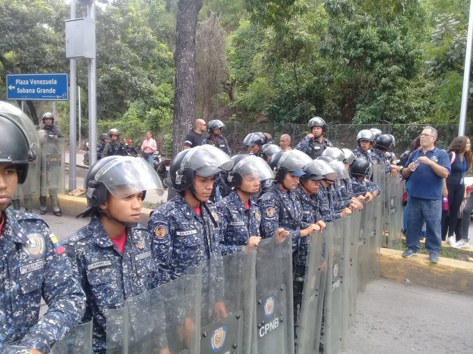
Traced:
<path id="1" fill-rule="evenodd" d="M 87 307 L 82 322 L 94 320 L 94 353 L 106 350 L 107 310 L 119 309 L 127 298 L 143 294 L 157 285 L 150 234 L 139 224 L 126 230 L 123 254 L 97 216 L 63 242 L 86 292 Z"/>

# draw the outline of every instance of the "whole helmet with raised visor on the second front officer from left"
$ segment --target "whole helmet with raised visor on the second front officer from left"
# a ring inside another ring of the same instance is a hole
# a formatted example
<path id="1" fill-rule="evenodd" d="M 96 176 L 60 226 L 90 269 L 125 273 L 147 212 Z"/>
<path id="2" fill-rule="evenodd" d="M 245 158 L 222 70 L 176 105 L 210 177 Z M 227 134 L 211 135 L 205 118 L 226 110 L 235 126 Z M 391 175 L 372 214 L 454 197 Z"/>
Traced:
<path id="1" fill-rule="evenodd" d="M 155 189 L 163 195 L 164 189 L 150 164 L 131 156 L 107 156 L 90 167 L 86 177 L 87 208 L 78 217 L 90 217 L 99 205 L 106 202 L 107 192 L 123 199 L 131 194 Z"/>

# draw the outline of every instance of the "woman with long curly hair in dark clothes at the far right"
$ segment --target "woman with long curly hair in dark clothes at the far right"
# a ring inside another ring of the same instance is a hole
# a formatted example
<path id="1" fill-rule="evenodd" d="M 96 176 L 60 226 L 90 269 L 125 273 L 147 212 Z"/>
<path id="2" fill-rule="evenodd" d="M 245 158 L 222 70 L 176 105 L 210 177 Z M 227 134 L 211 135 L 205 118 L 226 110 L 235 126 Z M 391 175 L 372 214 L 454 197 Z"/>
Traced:
<path id="1" fill-rule="evenodd" d="M 458 247 L 455 228 L 458 211 L 465 196 L 465 174 L 472 165 L 470 139 L 465 136 L 455 137 L 447 149 L 451 161 L 450 176 L 444 179 L 442 195 L 448 196 L 449 210 L 442 213 L 442 239 L 447 236 L 447 242 L 452 247 Z"/>

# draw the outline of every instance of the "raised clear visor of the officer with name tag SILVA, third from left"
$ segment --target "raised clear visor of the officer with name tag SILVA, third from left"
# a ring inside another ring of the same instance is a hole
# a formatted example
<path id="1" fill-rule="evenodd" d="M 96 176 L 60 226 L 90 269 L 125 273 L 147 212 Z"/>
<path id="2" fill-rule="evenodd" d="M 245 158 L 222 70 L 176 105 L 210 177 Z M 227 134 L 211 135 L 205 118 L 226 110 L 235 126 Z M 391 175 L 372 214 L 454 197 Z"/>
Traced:
<path id="1" fill-rule="evenodd" d="M 195 174 L 209 177 L 221 171 L 230 171 L 233 160 L 229 155 L 212 145 L 195 146 L 181 162 L 181 169 L 193 169 Z"/>

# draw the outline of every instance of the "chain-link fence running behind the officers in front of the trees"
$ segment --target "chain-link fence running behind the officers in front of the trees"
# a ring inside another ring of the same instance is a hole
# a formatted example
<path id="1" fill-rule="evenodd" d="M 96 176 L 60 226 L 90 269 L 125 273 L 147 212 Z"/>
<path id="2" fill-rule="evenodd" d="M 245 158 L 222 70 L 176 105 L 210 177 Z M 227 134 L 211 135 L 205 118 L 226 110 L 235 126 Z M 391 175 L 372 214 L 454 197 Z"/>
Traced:
<path id="1" fill-rule="evenodd" d="M 406 150 L 409 150 L 410 143 L 424 129 L 426 124 L 378 124 L 376 126 L 368 124 L 335 124 L 328 123 L 326 137 L 334 146 L 339 148 L 356 149 L 356 135 L 362 129 L 378 128 L 383 134 L 391 134 L 396 138 L 394 153 L 396 157 Z M 457 124 L 432 124 L 438 130 L 438 139 L 435 143 L 442 149 L 447 149 L 451 140 L 458 135 Z M 310 133 L 307 124 L 285 124 L 283 126 L 273 126 L 269 123 L 242 124 L 240 122 L 225 123 L 223 135 L 227 138 L 232 153 L 242 153 L 244 151 L 243 139 L 248 133 L 261 131 L 273 136 L 275 144 L 278 144 L 282 134 L 291 135 L 291 146 L 294 148 L 300 140 Z M 467 125 L 465 135 L 473 135 L 473 125 Z"/>

